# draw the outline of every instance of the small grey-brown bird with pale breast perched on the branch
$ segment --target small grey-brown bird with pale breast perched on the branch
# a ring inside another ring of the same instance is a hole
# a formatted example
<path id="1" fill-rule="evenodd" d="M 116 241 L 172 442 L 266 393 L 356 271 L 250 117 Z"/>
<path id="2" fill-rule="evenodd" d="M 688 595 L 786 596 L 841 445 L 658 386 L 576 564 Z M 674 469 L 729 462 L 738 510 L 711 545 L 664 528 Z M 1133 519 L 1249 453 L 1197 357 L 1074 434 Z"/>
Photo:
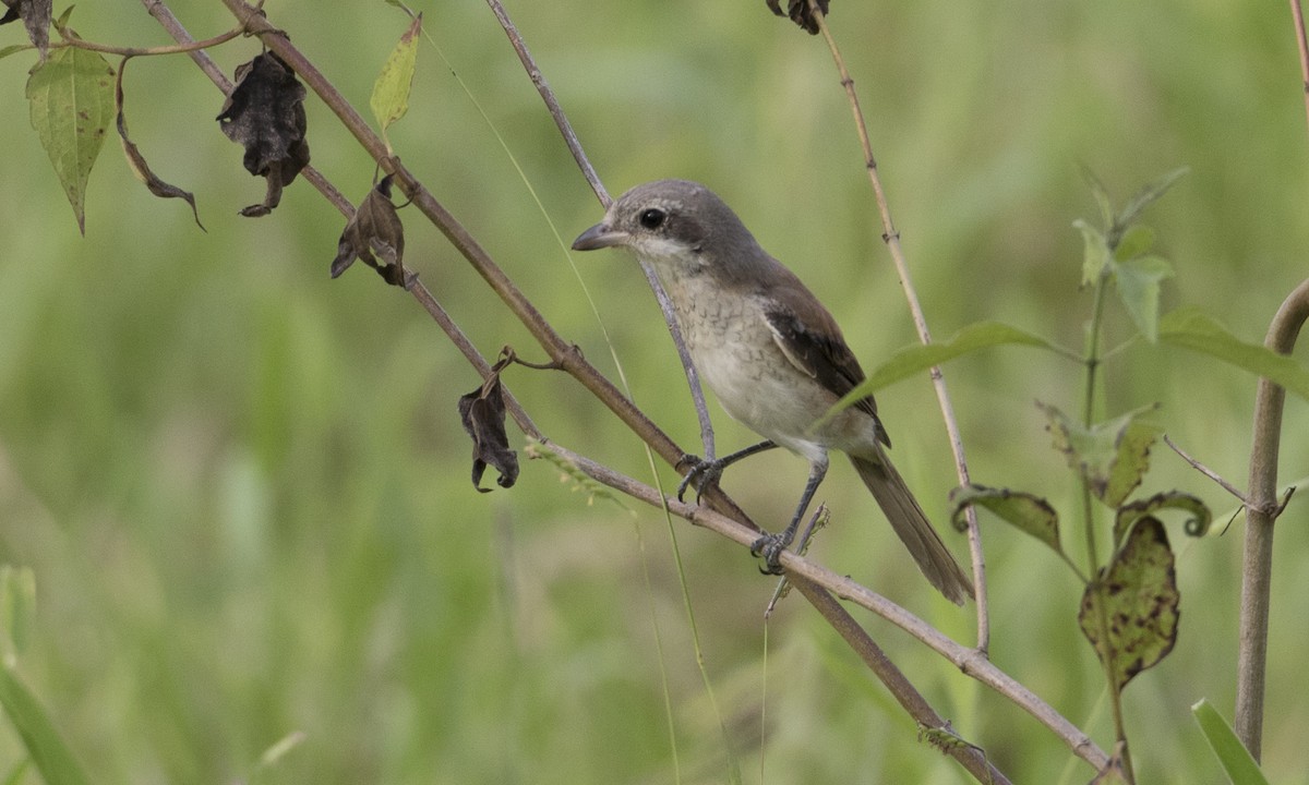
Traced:
<path id="1" fill-rule="evenodd" d="M 729 416 L 764 438 L 719 459 L 694 458 L 679 497 L 689 483 L 699 492 L 729 464 L 775 446 L 806 459 L 809 478 L 789 525 L 753 547 L 766 572 L 778 573 L 827 474 L 829 453 L 844 453 L 927 580 L 956 604 L 974 597 L 971 581 L 891 464 L 873 396 L 823 417 L 865 378 L 836 319 L 723 199 L 691 181 L 644 183 L 613 201 L 572 247 L 626 249 L 651 266 L 700 378 Z"/>

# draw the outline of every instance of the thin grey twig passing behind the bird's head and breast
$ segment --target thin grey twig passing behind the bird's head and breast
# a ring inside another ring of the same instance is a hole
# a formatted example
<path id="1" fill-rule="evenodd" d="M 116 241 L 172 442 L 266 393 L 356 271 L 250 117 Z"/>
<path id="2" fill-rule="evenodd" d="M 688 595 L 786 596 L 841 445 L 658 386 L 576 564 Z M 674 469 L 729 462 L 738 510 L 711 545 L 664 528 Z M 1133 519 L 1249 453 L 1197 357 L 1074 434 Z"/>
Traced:
<path id="1" fill-rule="evenodd" d="M 546 109 L 550 110 L 550 116 L 555 119 L 555 126 L 564 137 L 568 152 L 572 153 L 573 160 L 581 169 L 583 177 L 590 183 L 590 188 L 596 192 L 596 198 L 600 199 L 600 204 L 605 209 L 609 209 L 611 203 L 609 191 L 600 182 L 600 175 L 596 174 L 596 169 L 590 165 L 590 158 L 581 149 L 581 143 L 577 140 L 577 133 L 573 131 L 572 123 L 568 122 L 568 115 L 564 114 L 563 106 L 559 105 L 559 99 L 555 97 L 554 90 L 550 89 L 550 84 L 546 81 L 541 68 L 537 67 L 537 61 L 528 50 L 528 43 L 518 33 L 518 27 L 514 26 L 513 20 L 509 18 L 509 13 L 504 9 L 500 0 L 487 0 L 487 5 L 491 7 L 491 12 L 500 21 L 500 26 L 504 29 L 505 35 L 509 37 L 509 43 L 513 46 L 513 51 L 518 54 L 518 60 L 522 63 L 524 69 L 526 69 L 528 77 L 537 86 L 542 101 L 546 102 Z M 678 324 L 677 317 L 673 315 L 673 301 L 669 300 L 668 292 L 664 290 L 664 285 L 654 273 L 654 268 L 643 259 L 637 259 L 636 262 L 645 275 L 645 283 L 654 292 L 654 300 L 658 301 L 664 322 L 673 336 L 673 345 L 677 347 L 677 356 L 682 361 L 682 370 L 686 374 L 686 382 L 691 389 L 691 400 L 695 404 L 695 416 L 700 423 L 700 446 L 704 450 L 704 458 L 713 461 L 716 447 L 713 444 L 713 423 L 709 420 L 709 407 L 704 403 L 704 389 L 700 386 L 700 374 L 695 369 L 695 364 L 691 362 L 691 353 L 687 351 L 686 340 L 682 338 L 682 327 Z"/>

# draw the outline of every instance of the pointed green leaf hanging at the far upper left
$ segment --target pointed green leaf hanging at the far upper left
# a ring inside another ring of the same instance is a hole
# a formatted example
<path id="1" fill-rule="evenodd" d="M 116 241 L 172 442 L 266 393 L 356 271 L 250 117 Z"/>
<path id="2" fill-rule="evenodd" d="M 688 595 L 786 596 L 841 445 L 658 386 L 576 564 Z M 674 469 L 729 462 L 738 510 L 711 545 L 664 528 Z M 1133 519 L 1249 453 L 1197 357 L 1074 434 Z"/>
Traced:
<path id="1" fill-rule="evenodd" d="M 31 127 L 85 234 L 86 179 L 114 119 L 114 69 L 96 52 L 58 48 L 31 69 L 27 102 Z"/>

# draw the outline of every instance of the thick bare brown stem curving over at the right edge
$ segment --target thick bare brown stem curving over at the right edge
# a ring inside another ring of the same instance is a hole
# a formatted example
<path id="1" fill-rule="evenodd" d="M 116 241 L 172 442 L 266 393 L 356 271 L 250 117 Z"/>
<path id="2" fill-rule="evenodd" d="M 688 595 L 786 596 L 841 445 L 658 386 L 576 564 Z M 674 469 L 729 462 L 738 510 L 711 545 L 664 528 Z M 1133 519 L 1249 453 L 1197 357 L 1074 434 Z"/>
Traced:
<path id="1" fill-rule="evenodd" d="M 1300 327 L 1309 319 L 1309 280 L 1278 309 L 1263 344 L 1289 355 Z M 1241 567 L 1241 633 L 1236 665 L 1236 734 L 1255 760 L 1263 746 L 1263 693 L 1268 669 L 1268 606 L 1272 589 L 1272 525 L 1278 504 L 1278 450 L 1287 391 L 1259 379 L 1254 400 L 1254 444 L 1245 515 L 1245 561 Z"/>

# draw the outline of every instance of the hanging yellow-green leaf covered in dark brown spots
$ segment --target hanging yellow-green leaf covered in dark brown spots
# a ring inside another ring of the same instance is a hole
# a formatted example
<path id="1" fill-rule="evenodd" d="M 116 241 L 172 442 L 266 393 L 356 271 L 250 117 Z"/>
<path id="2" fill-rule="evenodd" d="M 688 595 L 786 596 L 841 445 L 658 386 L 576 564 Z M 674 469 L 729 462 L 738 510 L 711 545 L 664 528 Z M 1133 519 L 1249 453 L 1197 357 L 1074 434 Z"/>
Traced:
<path id="1" fill-rule="evenodd" d="M 1077 614 L 1083 635 L 1110 665 L 1115 689 L 1173 650 L 1178 599 L 1168 532 L 1158 518 L 1147 515 L 1086 585 Z"/>

